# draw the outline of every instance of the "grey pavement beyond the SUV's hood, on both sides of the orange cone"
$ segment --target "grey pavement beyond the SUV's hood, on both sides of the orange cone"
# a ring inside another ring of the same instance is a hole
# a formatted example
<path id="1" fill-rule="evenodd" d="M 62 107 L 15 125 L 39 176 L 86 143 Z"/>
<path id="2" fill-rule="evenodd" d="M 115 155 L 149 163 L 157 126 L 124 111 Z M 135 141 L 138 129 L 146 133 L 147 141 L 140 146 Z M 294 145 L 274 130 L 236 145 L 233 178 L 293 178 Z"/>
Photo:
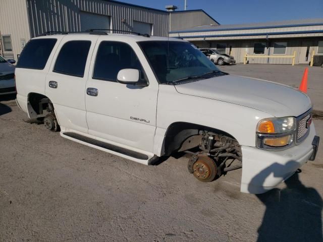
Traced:
<path id="1" fill-rule="evenodd" d="M 323 68 L 309 67 L 308 65 L 259 65 L 237 64 L 232 66 L 218 66 L 230 74 L 260 78 L 273 82 L 286 84 L 298 88 L 303 73 L 308 67 L 307 94 L 311 98 L 314 109 L 323 112 Z"/>

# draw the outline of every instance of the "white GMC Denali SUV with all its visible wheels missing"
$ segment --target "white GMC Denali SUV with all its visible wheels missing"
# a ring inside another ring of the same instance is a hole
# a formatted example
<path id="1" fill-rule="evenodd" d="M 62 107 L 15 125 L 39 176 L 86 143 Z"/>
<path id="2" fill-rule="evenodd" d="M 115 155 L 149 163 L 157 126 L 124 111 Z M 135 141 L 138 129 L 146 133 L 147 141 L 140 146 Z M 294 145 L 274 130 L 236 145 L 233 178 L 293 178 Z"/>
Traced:
<path id="1" fill-rule="evenodd" d="M 146 165 L 190 153 L 188 170 L 200 181 L 242 167 L 245 193 L 273 189 L 315 158 L 319 141 L 306 94 L 221 72 L 176 38 L 33 38 L 16 86 L 29 118 L 64 138 Z"/>

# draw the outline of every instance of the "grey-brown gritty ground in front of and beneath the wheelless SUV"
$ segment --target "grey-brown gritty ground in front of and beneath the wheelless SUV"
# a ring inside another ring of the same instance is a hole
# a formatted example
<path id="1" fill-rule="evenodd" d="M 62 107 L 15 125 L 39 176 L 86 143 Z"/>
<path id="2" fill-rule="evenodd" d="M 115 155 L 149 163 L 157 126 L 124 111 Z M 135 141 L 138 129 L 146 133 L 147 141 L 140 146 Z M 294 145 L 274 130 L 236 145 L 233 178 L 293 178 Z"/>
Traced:
<path id="1" fill-rule="evenodd" d="M 204 184 L 185 157 L 144 166 L 24 123 L 11 98 L 0 99 L 0 241 L 322 240 L 322 143 L 280 188 L 242 194 L 241 170 Z"/>

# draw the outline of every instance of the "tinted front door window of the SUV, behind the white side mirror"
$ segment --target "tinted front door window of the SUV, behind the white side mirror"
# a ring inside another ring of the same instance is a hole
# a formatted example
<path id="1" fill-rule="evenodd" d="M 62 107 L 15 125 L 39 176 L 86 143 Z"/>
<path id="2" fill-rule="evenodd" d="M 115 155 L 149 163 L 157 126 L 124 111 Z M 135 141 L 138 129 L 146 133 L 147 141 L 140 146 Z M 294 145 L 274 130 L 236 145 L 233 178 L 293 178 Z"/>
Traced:
<path id="1" fill-rule="evenodd" d="M 140 82 L 145 82 L 144 72 L 135 51 L 123 42 L 102 41 L 98 47 L 93 79 L 117 82 L 122 69 L 137 69 Z"/>

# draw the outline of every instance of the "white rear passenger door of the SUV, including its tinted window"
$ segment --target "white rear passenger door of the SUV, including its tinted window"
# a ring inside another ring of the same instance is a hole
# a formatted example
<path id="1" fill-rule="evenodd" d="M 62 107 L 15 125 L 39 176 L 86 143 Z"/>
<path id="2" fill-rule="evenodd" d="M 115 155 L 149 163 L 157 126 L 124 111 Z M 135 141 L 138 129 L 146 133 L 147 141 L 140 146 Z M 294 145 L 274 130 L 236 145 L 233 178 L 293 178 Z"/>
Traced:
<path id="1" fill-rule="evenodd" d="M 54 104 L 63 131 L 88 131 L 85 84 L 97 38 L 96 35 L 89 35 L 86 40 L 79 35 L 65 36 L 46 76 L 45 93 Z"/>

